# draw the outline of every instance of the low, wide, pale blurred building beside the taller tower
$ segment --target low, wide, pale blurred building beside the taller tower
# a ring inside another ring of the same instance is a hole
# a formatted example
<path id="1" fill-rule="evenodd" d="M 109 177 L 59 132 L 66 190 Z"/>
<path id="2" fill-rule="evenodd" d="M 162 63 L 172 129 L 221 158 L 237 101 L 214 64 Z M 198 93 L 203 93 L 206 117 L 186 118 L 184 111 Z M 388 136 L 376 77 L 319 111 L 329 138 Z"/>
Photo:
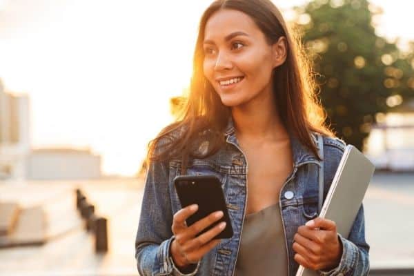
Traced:
<path id="1" fill-rule="evenodd" d="M 98 179 L 101 157 L 88 149 L 41 148 L 30 152 L 26 168 L 27 179 Z"/>

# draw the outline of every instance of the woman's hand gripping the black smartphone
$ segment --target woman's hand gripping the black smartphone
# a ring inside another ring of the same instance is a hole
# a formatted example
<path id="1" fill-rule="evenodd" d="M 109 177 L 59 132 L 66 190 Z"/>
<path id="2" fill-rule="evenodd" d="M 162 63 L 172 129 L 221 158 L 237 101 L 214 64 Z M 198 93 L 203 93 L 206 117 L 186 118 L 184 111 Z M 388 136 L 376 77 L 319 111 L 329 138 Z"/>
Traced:
<path id="1" fill-rule="evenodd" d="M 186 219 L 193 215 L 197 209 L 197 204 L 182 208 L 175 213 L 172 220 L 171 230 L 175 239 L 172 241 L 170 251 L 174 263 L 179 268 L 197 264 L 201 257 L 219 244 L 221 239 L 213 239 L 213 237 L 226 228 L 226 222 L 223 221 L 206 233 L 195 237 L 204 228 L 223 217 L 223 212 L 217 211 L 187 227 Z"/>

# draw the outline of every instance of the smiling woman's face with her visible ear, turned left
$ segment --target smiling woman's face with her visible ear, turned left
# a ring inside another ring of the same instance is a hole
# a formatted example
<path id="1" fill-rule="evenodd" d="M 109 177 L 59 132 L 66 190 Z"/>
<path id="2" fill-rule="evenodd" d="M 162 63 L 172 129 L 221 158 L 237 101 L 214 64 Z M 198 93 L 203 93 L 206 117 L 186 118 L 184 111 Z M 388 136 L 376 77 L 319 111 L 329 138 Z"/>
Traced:
<path id="1" fill-rule="evenodd" d="M 206 23 L 203 47 L 204 75 L 225 106 L 240 106 L 272 94 L 273 68 L 284 61 L 281 46 L 268 45 L 247 14 L 226 9 L 215 12 Z"/>

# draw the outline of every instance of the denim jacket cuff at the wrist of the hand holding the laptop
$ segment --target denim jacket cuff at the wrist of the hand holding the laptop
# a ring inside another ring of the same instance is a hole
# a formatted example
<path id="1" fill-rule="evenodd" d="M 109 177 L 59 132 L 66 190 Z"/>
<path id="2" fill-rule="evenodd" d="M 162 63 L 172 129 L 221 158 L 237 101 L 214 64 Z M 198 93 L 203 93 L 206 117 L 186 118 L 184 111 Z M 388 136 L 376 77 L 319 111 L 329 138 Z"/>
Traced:
<path id="1" fill-rule="evenodd" d="M 358 259 L 359 249 L 358 247 L 353 244 L 353 242 L 348 241 L 342 237 L 341 234 L 337 234 L 339 237 L 339 241 L 342 243 L 342 257 L 339 265 L 336 268 L 333 268 L 329 271 L 326 270 L 318 270 L 320 275 L 323 276 L 343 276 L 348 273 L 348 271 L 352 270 L 355 266 L 355 262 Z"/>

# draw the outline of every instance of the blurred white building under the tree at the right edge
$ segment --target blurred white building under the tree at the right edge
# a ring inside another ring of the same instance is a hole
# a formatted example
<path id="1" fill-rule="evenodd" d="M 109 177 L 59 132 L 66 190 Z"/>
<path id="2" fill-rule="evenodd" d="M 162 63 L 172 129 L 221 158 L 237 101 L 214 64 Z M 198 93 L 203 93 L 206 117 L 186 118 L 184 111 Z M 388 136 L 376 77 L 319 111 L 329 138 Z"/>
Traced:
<path id="1" fill-rule="evenodd" d="M 377 169 L 414 171 L 414 100 L 377 117 L 365 153 Z"/>

